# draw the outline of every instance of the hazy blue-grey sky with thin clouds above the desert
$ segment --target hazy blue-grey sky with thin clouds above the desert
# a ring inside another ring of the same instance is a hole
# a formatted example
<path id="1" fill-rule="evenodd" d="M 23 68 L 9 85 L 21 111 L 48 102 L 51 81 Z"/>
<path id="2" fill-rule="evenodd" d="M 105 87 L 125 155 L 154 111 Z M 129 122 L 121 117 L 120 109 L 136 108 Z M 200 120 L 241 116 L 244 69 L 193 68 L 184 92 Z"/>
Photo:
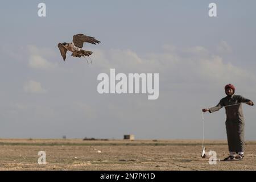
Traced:
<path id="1" fill-rule="evenodd" d="M 46 3 L 46 17 L 38 4 Z M 210 2 L 217 17 L 208 16 Z M 232 83 L 256 103 L 256 1 L 1 1 L 0 138 L 201 139 L 201 109 Z M 63 62 L 78 33 L 92 64 Z M 99 73 L 159 73 L 159 98 L 99 94 Z M 243 105 L 256 140 L 256 107 Z M 226 139 L 225 110 L 204 114 L 205 138 Z"/>

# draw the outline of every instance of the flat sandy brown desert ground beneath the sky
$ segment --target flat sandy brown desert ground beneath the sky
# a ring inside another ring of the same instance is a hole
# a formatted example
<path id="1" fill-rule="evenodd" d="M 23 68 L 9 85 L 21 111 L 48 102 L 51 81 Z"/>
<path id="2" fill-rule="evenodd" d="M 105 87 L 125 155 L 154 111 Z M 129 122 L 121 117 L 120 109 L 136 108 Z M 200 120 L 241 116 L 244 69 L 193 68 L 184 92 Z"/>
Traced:
<path id="1" fill-rule="evenodd" d="M 205 147 L 216 151 L 216 165 L 201 158 L 200 140 L 0 139 L 0 170 L 256 170 L 256 141 L 246 142 L 243 160 L 231 162 L 221 161 L 229 155 L 226 141 Z"/>

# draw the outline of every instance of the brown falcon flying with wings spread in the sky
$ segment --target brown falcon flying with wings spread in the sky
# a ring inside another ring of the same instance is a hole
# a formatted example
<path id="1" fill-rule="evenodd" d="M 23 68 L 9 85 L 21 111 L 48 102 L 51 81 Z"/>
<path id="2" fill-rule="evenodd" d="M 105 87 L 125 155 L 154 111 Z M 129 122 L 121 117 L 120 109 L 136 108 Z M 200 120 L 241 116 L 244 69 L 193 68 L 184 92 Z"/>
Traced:
<path id="1" fill-rule="evenodd" d="M 84 42 L 88 42 L 91 44 L 98 44 L 100 41 L 96 40 L 95 38 L 91 36 L 86 36 L 84 34 L 77 34 L 73 36 L 72 43 L 59 43 L 58 47 L 60 49 L 61 56 L 63 57 L 63 61 L 66 59 L 66 53 L 67 51 L 71 51 L 71 56 L 74 57 L 81 57 L 81 56 L 90 56 L 93 52 L 91 51 L 85 51 L 82 48 L 84 46 Z"/>

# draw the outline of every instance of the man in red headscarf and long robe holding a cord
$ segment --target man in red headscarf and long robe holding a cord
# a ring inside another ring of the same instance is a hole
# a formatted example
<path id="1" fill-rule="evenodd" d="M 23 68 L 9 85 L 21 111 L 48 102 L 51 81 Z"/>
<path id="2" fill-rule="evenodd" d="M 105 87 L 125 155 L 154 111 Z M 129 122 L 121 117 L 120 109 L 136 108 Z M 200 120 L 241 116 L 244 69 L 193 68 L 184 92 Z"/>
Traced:
<path id="1" fill-rule="evenodd" d="M 225 107 L 226 110 L 226 135 L 228 137 L 228 146 L 230 155 L 224 160 L 233 160 L 234 158 L 242 160 L 245 150 L 245 121 L 243 119 L 242 102 L 253 106 L 253 102 L 247 98 L 235 95 L 235 87 L 232 84 L 225 86 L 226 97 L 222 98 L 215 107 L 203 109 L 203 112 L 220 110 Z M 235 156 L 235 154 L 238 154 Z"/>

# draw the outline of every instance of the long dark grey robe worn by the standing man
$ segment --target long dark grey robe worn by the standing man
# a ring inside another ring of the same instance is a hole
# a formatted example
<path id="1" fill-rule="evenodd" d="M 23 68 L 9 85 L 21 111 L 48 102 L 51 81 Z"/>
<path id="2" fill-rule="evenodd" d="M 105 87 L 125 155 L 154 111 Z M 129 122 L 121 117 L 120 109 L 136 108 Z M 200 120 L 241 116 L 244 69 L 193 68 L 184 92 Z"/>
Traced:
<path id="1" fill-rule="evenodd" d="M 220 110 L 224 106 L 249 102 L 242 96 L 233 94 L 220 100 L 217 106 L 209 109 L 210 113 Z M 226 109 L 226 135 L 230 152 L 243 152 L 245 150 L 245 121 L 243 119 L 242 104 L 228 106 Z"/>

